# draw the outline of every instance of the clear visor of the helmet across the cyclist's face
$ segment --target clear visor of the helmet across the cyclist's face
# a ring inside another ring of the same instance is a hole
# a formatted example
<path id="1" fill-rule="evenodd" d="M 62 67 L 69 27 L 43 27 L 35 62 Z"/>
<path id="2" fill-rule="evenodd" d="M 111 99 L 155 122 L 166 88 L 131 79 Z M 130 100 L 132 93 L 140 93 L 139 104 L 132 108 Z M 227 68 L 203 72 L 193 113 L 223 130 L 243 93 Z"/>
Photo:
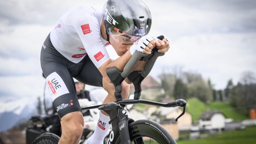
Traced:
<path id="1" fill-rule="evenodd" d="M 135 41 L 137 41 L 140 38 L 139 36 L 129 35 L 114 26 L 111 26 L 107 30 L 107 32 L 115 42 L 121 43 L 121 44 L 127 44 L 127 43 L 133 44 Z"/>

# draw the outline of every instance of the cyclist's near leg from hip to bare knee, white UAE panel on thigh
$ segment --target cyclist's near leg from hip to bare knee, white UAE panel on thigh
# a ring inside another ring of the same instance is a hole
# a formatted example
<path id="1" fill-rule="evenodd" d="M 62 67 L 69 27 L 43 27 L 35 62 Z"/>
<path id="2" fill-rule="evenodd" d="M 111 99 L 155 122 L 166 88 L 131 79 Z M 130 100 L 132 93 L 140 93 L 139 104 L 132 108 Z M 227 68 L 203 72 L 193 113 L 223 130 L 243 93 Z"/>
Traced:
<path id="1" fill-rule="evenodd" d="M 83 116 L 76 96 L 74 80 L 65 59 L 52 46 L 49 36 L 41 50 L 41 67 L 46 77 L 53 106 L 61 119 L 62 135 L 59 143 L 79 142 L 83 132 Z"/>

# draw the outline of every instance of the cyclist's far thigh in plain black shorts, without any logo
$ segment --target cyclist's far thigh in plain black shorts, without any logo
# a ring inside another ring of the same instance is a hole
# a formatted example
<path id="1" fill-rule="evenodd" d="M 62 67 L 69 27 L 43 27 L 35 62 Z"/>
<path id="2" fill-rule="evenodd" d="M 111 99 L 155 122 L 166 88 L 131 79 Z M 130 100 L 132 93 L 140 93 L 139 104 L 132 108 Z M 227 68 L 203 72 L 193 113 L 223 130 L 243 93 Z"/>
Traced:
<path id="1" fill-rule="evenodd" d="M 74 78 L 87 85 L 102 87 L 102 75 L 89 56 L 86 57 L 80 73 L 74 76 Z"/>

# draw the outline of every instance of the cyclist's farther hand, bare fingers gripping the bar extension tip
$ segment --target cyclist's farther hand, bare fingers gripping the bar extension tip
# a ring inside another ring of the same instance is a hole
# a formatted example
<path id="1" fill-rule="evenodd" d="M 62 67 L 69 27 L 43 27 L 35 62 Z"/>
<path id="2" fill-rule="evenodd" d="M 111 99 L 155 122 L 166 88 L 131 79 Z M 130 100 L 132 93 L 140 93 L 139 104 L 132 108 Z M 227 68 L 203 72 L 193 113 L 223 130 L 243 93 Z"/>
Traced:
<path id="1" fill-rule="evenodd" d="M 162 37 L 163 40 L 160 40 L 159 38 Z M 158 52 L 161 52 L 161 53 L 165 53 L 169 50 L 170 46 L 169 46 L 169 41 L 168 41 L 168 38 L 166 37 L 166 35 L 161 35 L 156 39 L 156 46 L 158 48 Z"/>

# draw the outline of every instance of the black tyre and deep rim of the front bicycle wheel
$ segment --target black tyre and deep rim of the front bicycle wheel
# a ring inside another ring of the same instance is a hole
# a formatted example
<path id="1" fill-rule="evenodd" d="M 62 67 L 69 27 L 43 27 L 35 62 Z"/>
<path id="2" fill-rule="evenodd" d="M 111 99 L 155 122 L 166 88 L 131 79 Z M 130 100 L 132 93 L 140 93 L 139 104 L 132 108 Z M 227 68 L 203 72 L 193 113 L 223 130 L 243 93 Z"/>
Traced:
<path id="1" fill-rule="evenodd" d="M 149 137 L 159 144 L 177 144 L 170 133 L 159 123 L 151 120 L 138 120 L 129 124 L 129 134 L 131 142 L 135 144 L 144 144 L 139 140 L 141 137 Z M 118 133 L 114 144 L 121 144 L 120 134 Z"/>

